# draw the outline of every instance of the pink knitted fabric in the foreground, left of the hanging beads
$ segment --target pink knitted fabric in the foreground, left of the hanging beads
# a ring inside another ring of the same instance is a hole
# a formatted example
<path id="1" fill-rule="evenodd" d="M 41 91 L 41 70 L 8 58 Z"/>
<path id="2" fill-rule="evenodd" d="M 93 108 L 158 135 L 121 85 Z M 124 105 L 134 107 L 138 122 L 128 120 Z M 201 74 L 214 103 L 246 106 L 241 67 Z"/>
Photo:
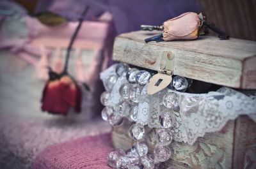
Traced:
<path id="1" fill-rule="evenodd" d="M 87 136 L 47 147 L 38 154 L 34 169 L 107 169 L 111 147 L 110 133 Z"/>

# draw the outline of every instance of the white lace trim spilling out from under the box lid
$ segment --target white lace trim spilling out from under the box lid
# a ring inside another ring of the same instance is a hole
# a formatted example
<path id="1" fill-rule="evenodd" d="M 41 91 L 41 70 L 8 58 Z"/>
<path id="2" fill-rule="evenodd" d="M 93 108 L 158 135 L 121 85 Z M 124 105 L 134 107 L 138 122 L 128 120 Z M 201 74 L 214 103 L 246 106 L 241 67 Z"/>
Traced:
<path id="1" fill-rule="evenodd" d="M 115 75 L 115 65 L 100 74 L 103 83 L 109 75 Z M 118 89 L 127 83 L 125 76 L 119 77 L 111 91 L 111 103 L 115 107 L 120 102 Z M 166 88 L 154 95 L 147 94 L 147 85 L 143 87 L 138 105 L 137 122 L 149 128 L 161 128 L 158 117 L 161 112 L 171 111 L 163 106 L 163 96 L 172 90 Z M 235 91 L 221 87 L 216 92 L 191 94 L 176 92 L 179 95 L 180 110 L 174 112 L 175 124 L 170 128 L 173 140 L 192 145 L 205 133 L 220 131 L 227 121 L 239 115 L 248 115 L 256 122 L 256 91 Z"/>

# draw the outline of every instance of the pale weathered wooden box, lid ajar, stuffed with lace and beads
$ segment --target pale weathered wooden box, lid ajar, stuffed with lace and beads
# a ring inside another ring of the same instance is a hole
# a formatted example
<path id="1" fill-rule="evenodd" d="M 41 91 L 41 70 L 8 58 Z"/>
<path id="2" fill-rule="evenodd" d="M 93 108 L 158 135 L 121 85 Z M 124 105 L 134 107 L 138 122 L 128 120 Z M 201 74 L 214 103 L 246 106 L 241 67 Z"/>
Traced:
<path id="1" fill-rule="evenodd" d="M 145 43 L 157 33 L 136 31 L 117 36 L 113 59 L 149 70 L 159 70 L 161 54 L 175 55 L 174 75 L 237 89 L 256 89 L 256 41 L 200 36 L 193 41 Z M 255 103 L 256 104 L 256 103 Z M 256 168 L 256 123 L 246 115 L 207 133 L 193 145 L 172 143 L 175 153 L 165 165 L 177 168 Z M 113 129 L 113 145 L 129 149 L 127 126 Z M 149 145 L 150 150 L 154 145 Z"/>

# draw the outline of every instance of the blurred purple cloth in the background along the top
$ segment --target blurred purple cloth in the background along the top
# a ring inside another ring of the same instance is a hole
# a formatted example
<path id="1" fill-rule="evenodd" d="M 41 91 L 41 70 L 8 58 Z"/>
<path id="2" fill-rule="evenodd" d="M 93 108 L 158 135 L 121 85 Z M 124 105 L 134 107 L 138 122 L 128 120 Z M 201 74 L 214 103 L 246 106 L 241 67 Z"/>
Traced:
<path id="1" fill-rule="evenodd" d="M 73 0 L 40 0 L 36 11 L 49 10 L 77 20 L 86 5 L 90 6 L 86 20 L 109 11 L 118 34 L 138 30 L 141 24 L 161 25 L 181 13 L 201 10 L 195 0 L 77 0 L 76 3 Z"/>

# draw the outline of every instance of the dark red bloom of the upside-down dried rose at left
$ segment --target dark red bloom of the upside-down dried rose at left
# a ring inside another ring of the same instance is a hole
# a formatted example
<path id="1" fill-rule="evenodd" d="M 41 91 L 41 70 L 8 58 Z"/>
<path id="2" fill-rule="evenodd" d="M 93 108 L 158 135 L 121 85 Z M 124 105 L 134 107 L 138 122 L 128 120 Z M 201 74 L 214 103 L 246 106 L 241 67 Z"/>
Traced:
<path id="1" fill-rule="evenodd" d="M 82 93 L 80 87 L 69 75 L 50 72 L 42 96 L 42 110 L 52 114 L 67 115 L 70 108 L 81 112 Z"/>

